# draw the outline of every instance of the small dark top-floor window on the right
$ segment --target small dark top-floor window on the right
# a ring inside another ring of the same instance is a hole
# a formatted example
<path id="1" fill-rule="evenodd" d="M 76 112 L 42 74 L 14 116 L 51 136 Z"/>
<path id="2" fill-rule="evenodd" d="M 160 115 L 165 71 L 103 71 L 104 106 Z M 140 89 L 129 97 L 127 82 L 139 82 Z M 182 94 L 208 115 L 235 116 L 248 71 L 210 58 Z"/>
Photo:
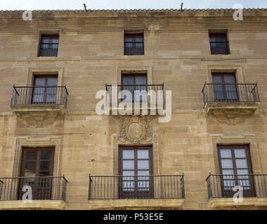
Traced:
<path id="1" fill-rule="evenodd" d="M 211 55 L 229 55 L 227 32 L 209 32 Z"/>

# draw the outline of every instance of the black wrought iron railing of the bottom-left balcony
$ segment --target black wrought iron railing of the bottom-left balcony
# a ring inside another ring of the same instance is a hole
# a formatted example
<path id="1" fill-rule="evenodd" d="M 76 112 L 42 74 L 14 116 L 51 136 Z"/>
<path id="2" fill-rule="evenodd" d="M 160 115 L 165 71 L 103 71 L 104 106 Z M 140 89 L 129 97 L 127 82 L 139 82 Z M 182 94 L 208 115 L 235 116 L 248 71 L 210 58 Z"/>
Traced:
<path id="1" fill-rule="evenodd" d="M 65 176 L 0 177 L 0 201 L 65 201 L 66 191 Z"/>

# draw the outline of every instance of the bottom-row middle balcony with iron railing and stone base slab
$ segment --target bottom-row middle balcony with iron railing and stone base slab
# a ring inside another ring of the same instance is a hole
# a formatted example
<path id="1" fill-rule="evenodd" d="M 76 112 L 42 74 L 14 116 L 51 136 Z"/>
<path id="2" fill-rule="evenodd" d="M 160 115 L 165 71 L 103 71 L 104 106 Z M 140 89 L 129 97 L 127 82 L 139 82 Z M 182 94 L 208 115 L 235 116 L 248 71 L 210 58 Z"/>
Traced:
<path id="1" fill-rule="evenodd" d="M 91 209 L 178 209 L 183 175 L 89 176 Z"/>

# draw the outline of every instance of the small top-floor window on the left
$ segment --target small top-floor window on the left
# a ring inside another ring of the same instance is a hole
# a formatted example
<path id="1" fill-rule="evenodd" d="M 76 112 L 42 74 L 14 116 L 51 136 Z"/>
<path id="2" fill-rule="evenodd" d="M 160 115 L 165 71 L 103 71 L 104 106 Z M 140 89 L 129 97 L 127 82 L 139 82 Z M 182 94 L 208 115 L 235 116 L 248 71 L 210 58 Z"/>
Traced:
<path id="1" fill-rule="evenodd" d="M 39 57 L 57 57 L 58 56 L 58 34 L 41 34 L 39 43 Z"/>

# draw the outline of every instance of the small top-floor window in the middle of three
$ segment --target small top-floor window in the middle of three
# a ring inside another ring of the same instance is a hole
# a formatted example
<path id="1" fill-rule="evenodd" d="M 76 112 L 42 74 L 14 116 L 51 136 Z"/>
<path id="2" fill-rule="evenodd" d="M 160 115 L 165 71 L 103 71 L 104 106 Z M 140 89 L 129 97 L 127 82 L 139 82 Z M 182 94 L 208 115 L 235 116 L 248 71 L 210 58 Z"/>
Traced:
<path id="1" fill-rule="evenodd" d="M 124 33 L 124 55 L 144 55 L 144 34 Z"/>

